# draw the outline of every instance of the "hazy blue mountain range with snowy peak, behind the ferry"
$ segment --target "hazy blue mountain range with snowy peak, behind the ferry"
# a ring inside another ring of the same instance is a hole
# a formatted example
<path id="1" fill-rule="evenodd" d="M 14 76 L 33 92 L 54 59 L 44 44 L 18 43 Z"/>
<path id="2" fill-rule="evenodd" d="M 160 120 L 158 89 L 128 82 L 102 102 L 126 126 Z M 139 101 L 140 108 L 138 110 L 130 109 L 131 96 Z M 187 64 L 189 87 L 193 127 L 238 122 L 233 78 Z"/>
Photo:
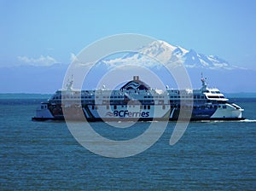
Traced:
<path id="1" fill-rule="evenodd" d="M 158 76 L 165 78 L 164 84 L 175 88 L 175 82 L 173 83 L 169 78 L 166 78 L 164 72 L 162 72 L 162 65 L 157 65 L 156 61 L 152 61 L 152 58 L 150 59 L 143 55 L 148 55 L 174 67 L 183 65 L 187 68 L 189 78 L 195 89 L 201 87 L 200 78 L 201 72 L 203 72 L 204 76 L 207 77 L 208 84 L 218 87 L 223 92 L 256 92 L 256 84 L 253 80 L 256 76 L 256 71 L 233 66 L 217 55 L 199 54 L 194 49 L 183 49 L 180 46 L 173 46 L 164 41 L 154 41 L 145 47 L 138 48 L 137 52 L 100 61 L 95 66 L 95 72 L 88 76 L 89 83 L 84 88 L 94 89 L 96 82 L 98 82 L 97 80 L 101 79 L 113 67 L 126 66 L 131 63 L 149 68 Z M 2 67 L 0 69 L 0 93 L 51 94 L 55 90 L 61 89 L 67 67 L 67 64 L 61 63 L 47 67 L 27 65 Z M 135 74 L 136 71 L 131 73 L 131 78 Z"/>

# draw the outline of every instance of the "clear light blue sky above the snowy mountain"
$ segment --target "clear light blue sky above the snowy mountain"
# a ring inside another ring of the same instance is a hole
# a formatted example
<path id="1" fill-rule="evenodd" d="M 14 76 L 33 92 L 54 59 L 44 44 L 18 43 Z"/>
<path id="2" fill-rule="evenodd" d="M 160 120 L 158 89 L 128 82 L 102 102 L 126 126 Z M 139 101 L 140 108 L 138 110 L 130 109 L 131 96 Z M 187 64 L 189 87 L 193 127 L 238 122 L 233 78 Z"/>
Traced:
<path id="1" fill-rule="evenodd" d="M 138 33 L 256 70 L 249 0 L 0 0 L 0 67 L 69 63 L 98 39 Z"/>

